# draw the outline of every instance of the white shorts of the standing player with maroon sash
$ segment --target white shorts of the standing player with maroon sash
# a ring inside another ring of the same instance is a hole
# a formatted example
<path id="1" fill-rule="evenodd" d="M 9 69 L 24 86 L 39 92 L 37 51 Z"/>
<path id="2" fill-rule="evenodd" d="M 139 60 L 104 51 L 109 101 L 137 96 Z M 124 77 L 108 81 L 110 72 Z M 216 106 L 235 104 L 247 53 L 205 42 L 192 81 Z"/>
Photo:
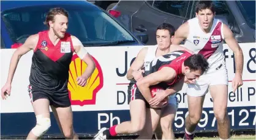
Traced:
<path id="1" fill-rule="evenodd" d="M 228 85 L 228 74 L 225 65 L 216 71 L 201 75 L 195 84 L 187 84 L 187 95 L 204 96 L 208 93 L 208 88 L 211 85 Z"/>

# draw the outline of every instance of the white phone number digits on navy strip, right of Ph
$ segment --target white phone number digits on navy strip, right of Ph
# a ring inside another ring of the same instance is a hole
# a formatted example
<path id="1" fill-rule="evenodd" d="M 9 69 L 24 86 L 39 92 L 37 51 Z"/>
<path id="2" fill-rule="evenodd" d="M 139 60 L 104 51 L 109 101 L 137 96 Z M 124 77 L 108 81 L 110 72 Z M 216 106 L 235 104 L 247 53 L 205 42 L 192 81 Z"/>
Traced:
<path id="1" fill-rule="evenodd" d="M 256 124 L 255 106 L 250 107 L 228 107 L 228 117 L 230 118 L 230 128 L 255 129 Z M 179 108 L 173 127 L 175 131 L 184 131 L 185 118 L 189 114 L 187 108 Z M 217 130 L 217 121 L 214 117 L 213 108 L 203 108 L 201 120 L 198 122 L 196 131 Z"/>

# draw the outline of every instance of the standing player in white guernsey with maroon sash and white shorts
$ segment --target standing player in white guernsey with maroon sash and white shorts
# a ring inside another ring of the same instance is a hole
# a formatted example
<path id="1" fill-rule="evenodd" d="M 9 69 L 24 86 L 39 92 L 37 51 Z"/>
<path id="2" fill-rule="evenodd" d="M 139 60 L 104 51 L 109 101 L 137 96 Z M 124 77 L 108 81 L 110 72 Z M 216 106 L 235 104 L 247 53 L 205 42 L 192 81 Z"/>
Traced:
<path id="1" fill-rule="evenodd" d="M 232 31 L 220 20 L 215 19 L 211 1 L 199 1 L 196 17 L 181 25 L 175 33 L 173 44 L 186 40 L 184 46 L 195 54 L 203 54 L 209 63 L 209 70 L 195 83 L 188 83 L 187 100 L 189 115 L 186 117 L 184 139 L 194 139 L 194 130 L 201 119 L 205 94 L 213 97 L 214 116 L 220 139 L 230 138 L 230 120 L 227 114 L 228 75 L 223 52 L 223 42 L 235 53 L 236 74 L 232 82 L 233 92 L 243 85 L 243 52 L 233 38 Z M 186 81 L 185 81 L 186 82 Z"/>

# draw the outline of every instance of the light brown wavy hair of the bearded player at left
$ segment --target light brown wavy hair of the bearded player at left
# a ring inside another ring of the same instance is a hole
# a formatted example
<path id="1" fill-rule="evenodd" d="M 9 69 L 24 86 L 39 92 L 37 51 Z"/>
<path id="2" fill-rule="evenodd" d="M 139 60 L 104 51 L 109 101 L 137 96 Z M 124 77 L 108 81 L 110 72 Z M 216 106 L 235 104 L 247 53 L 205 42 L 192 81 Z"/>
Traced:
<path id="1" fill-rule="evenodd" d="M 61 7 L 56 7 L 53 9 L 50 9 L 49 12 L 47 13 L 47 16 L 45 18 L 45 22 L 43 22 L 43 24 L 47 25 L 48 27 L 50 27 L 49 25 L 49 21 L 55 21 L 55 15 L 64 15 L 67 16 L 67 18 L 69 18 L 69 13 L 61 8 Z"/>

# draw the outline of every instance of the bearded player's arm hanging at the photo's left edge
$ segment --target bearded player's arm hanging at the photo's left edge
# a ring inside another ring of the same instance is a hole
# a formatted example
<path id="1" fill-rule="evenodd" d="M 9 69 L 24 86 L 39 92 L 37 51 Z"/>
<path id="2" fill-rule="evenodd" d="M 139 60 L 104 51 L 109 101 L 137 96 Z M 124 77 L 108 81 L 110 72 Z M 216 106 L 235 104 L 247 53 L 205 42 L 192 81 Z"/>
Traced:
<path id="1" fill-rule="evenodd" d="M 22 44 L 16 51 L 13 53 L 12 58 L 10 60 L 10 66 L 9 66 L 9 74 L 7 77 L 6 85 L 2 87 L 1 90 L 1 96 L 2 99 L 6 99 L 5 93 L 10 96 L 10 88 L 11 83 L 13 79 L 13 75 L 16 71 L 18 61 L 20 60 L 21 56 L 26 54 L 27 52 L 31 51 L 32 49 L 35 49 L 37 46 L 37 41 L 39 40 L 39 35 L 31 35 L 28 37 L 28 39 Z"/>

